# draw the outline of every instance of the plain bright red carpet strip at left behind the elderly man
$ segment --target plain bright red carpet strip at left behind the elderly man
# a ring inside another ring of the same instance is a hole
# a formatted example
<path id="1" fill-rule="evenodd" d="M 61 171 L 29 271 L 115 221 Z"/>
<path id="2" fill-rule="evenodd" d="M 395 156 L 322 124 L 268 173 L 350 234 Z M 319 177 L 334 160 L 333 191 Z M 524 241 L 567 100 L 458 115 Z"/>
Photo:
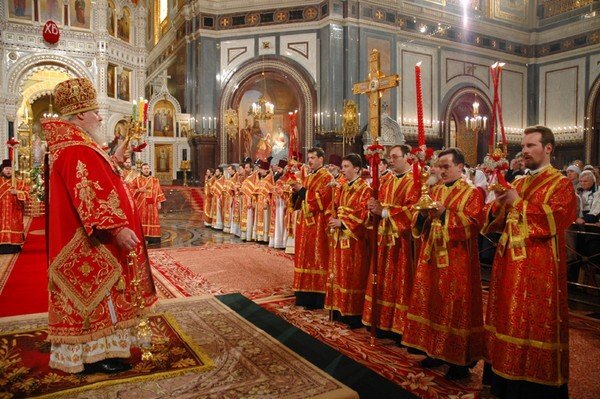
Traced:
<path id="1" fill-rule="evenodd" d="M 31 221 L 23 250 L 0 292 L 0 317 L 48 311 L 44 224 L 43 216 Z"/>

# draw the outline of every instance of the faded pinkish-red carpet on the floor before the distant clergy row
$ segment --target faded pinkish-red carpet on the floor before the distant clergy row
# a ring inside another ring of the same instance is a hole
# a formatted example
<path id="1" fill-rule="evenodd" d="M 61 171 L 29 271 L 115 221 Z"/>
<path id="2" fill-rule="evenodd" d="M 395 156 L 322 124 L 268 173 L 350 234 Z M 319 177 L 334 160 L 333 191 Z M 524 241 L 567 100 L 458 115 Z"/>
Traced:
<path id="1" fill-rule="evenodd" d="M 240 292 L 250 299 L 291 295 L 293 257 L 259 244 L 149 251 L 164 298 Z"/>

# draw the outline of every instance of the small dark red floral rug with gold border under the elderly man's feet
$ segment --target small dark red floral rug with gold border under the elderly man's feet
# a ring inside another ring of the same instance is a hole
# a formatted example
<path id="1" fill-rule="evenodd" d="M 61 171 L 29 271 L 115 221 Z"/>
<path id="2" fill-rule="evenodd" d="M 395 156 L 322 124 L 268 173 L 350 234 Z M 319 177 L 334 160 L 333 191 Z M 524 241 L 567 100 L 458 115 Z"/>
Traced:
<path id="1" fill-rule="evenodd" d="M 32 321 L 33 322 L 33 321 Z M 130 371 L 119 374 L 69 374 L 48 367 L 50 344 L 47 331 L 7 329 L 23 327 L 23 321 L 2 323 L 0 335 L 0 394 L 2 398 L 65 397 L 79 392 L 126 382 L 142 382 L 185 373 L 199 373 L 213 367 L 208 356 L 166 314 L 150 317 L 152 359 L 142 360 L 132 350 Z M 35 323 L 35 322 L 33 322 Z"/>

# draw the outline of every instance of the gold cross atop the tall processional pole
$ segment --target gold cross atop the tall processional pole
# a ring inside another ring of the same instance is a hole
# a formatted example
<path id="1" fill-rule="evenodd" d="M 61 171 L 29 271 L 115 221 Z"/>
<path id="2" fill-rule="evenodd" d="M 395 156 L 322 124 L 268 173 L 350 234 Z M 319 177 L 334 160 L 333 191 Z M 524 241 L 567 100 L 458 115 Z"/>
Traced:
<path id="1" fill-rule="evenodd" d="M 380 64 L 379 51 L 373 49 L 369 55 L 369 80 L 356 83 L 352 87 L 354 94 L 367 94 L 369 96 L 369 132 L 371 133 L 372 144 L 375 144 L 380 136 L 381 96 L 387 89 L 400 84 L 400 76 L 397 74 L 385 76 L 379 69 Z"/>

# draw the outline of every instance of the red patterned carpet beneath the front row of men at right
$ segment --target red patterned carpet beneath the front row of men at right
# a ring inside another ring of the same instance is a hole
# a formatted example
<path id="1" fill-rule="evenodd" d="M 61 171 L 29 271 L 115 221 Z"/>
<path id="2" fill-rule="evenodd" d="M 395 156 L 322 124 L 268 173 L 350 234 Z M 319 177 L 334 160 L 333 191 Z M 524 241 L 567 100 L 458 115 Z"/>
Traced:
<path id="1" fill-rule="evenodd" d="M 481 385 L 483 362 L 473 369 L 471 377 L 460 383 L 444 378 L 447 367 L 423 369 L 420 355 L 411 355 L 394 341 L 378 339 L 369 345 L 366 329 L 349 330 L 344 324 L 330 322 L 325 310 L 307 311 L 294 306 L 294 298 L 258 301 L 266 310 L 288 321 L 351 359 L 364 364 L 390 381 L 422 398 L 474 399 L 492 398 Z M 570 383 L 571 398 L 600 397 L 600 321 L 571 315 L 570 318 Z"/>

